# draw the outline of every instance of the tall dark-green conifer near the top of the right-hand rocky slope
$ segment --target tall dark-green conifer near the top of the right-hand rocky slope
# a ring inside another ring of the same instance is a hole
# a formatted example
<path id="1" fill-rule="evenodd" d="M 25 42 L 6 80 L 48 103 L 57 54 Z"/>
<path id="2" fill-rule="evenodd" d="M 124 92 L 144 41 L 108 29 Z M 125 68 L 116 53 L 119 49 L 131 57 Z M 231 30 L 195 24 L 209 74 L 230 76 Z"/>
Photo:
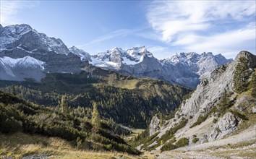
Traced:
<path id="1" fill-rule="evenodd" d="M 249 79 L 249 66 L 247 63 L 247 59 L 245 57 L 241 57 L 236 66 L 233 81 L 236 93 L 242 93 L 247 90 L 247 80 Z"/>

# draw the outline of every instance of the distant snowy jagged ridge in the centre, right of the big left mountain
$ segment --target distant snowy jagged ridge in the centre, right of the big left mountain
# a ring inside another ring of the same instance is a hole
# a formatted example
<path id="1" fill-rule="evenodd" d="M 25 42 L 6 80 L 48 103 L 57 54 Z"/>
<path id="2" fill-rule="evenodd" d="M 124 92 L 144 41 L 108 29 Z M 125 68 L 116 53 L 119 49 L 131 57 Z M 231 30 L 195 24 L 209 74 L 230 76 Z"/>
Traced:
<path id="1" fill-rule="evenodd" d="M 218 66 L 233 61 L 221 54 L 176 53 L 167 59 L 158 60 L 145 46 L 112 48 L 90 58 L 90 64 L 103 69 L 111 69 L 135 77 L 150 77 L 166 82 L 196 87 L 200 78 L 208 78 Z"/>

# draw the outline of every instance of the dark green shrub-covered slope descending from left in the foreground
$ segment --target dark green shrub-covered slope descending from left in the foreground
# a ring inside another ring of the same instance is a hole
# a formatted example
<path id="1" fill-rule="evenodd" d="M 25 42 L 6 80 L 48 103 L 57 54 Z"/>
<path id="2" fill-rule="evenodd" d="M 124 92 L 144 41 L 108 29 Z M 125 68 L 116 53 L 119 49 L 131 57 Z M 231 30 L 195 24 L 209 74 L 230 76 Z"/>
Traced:
<path id="1" fill-rule="evenodd" d="M 96 127 L 79 111 L 79 109 L 69 109 L 64 112 L 57 108 L 38 106 L 0 91 L 0 132 L 4 134 L 23 132 L 59 137 L 73 143 L 73 148 L 82 150 L 116 150 L 140 154 L 116 134 L 115 129 L 121 128 L 102 121 L 98 121 L 100 125 Z M 76 113 L 80 113 L 81 116 L 77 116 Z M 44 142 L 43 145 L 48 143 Z M 1 152 L 1 155 L 7 154 Z"/>

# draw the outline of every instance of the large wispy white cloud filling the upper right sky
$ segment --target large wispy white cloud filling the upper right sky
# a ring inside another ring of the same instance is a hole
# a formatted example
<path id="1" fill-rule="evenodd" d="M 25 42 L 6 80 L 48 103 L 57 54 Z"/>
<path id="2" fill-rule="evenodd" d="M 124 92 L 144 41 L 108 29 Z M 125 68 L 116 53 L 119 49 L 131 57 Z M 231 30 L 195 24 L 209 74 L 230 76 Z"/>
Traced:
<path id="1" fill-rule="evenodd" d="M 255 1 L 153 1 L 147 18 L 170 46 L 237 53 L 255 51 L 255 9 Z"/>

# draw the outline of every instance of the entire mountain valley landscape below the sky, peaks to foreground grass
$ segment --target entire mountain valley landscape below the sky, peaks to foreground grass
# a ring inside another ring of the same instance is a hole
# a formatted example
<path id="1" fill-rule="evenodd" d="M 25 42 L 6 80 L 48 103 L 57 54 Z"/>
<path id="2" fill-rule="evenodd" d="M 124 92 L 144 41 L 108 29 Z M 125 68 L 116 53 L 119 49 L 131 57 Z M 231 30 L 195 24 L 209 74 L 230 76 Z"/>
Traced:
<path id="1" fill-rule="evenodd" d="M 254 158 L 255 113 L 248 51 L 92 55 L 0 25 L 2 158 Z"/>

